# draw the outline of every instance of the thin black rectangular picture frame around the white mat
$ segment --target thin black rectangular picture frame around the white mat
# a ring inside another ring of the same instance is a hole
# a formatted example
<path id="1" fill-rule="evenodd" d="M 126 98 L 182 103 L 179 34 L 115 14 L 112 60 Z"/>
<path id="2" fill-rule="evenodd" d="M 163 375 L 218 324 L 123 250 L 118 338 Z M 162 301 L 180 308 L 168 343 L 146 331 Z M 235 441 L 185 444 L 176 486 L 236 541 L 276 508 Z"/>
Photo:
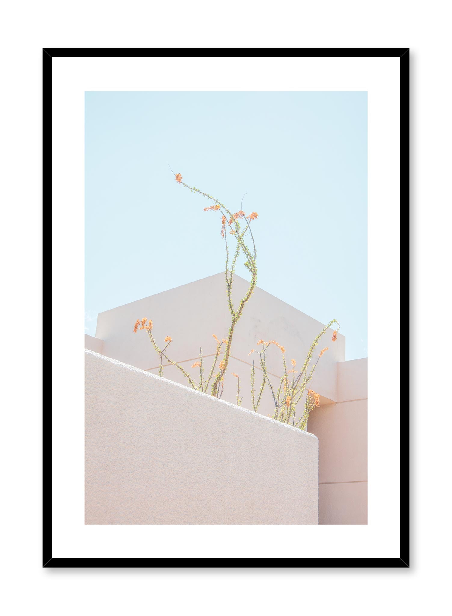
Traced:
<path id="1" fill-rule="evenodd" d="M 42 202 L 44 222 L 52 208 L 52 59 L 53 58 L 147 58 L 147 57 L 321 57 L 321 58 L 400 58 L 400 211 L 409 219 L 410 204 L 410 50 L 400 49 L 42 49 Z M 47 224 L 44 226 L 46 228 Z M 405 225 L 404 225 L 405 226 Z M 401 236 L 401 267 L 408 268 L 408 239 Z M 44 257 L 51 256 L 44 243 Z M 408 285 L 408 283 L 404 284 Z M 400 296 L 402 311 L 408 310 L 408 290 Z M 405 343 L 404 343 L 405 344 Z M 408 367 L 400 363 L 402 378 L 408 379 Z M 47 386 L 44 387 L 44 395 Z M 404 400 L 406 408 L 406 400 Z M 47 404 L 44 405 L 47 408 Z M 400 558 L 53 558 L 52 557 L 52 421 L 44 410 L 42 567 L 409 567 L 410 566 L 410 444 L 409 413 L 404 417 L 400 440 Z"/>

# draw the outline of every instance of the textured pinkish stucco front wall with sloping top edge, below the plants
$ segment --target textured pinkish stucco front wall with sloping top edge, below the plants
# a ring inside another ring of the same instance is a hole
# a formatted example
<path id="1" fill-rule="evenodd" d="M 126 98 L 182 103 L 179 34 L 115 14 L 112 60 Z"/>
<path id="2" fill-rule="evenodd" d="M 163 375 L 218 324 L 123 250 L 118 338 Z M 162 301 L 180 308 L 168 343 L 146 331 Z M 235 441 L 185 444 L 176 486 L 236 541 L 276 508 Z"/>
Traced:
<path id="1" fill-rule="evenodd" d="M 318 524 L 313 434 L 85 354 L 86 524 Z"/>

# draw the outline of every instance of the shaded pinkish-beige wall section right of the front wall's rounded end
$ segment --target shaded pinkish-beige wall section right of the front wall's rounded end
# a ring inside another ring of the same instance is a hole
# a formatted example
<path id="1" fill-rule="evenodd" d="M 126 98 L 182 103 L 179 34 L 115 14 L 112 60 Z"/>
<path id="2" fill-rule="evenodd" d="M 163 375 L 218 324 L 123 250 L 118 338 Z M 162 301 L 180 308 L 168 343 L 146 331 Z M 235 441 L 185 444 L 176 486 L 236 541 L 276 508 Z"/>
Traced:
<path id="1" fill-rule="evenodd" d="M 317 408 L 319 524 L 367 524 L 367 359 L 337 364 L 336 404 Z"/>

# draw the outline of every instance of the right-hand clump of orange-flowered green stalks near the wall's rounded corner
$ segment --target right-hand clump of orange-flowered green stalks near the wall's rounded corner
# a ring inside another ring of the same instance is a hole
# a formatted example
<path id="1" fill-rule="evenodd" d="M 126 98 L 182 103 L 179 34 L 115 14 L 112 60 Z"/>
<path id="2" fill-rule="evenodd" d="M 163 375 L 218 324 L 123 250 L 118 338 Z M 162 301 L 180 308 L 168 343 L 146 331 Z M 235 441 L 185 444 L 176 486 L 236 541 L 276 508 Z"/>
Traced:
<path id="1" fill-rule="evenodd" d="M 259 340 L 257 342 L 258 346 L 261 346 L 262 349 L 260 351 L 256 351 L 255 349 L 251 349 L 249 355 L 252 353 L 257 353 L 259 355 L 259 363 L 260 368 L 262 370 L 262 383 L 260 385 L 259 396 L 256 397 L 255 391 L 255 381 L 256 381 L 256 369 L 254 367 L 254 362 L 252 362 L 252 370 L 251 370 L 251 400 L 252 407 L 254 411 L 257 411 L 259 408 L 259 403 L 262 397 L 262 392 L 264 391 L 264 387 L 268 384 L 270 387 L 270 392 L 273 398 L 274 412 L 273 419 L 277 419 L 282 423 L 292 424 L 295 428 L 301 428 L 304 430 L 307 425 L 307 420 L 309 419 L 309 414 L 313 410 L 313 408 L 318 407 L 320 405 L 320 394 L 313 391 L 312 389 L 307 389 L 307 385 L 310 383 L 312 376 L 314 374 L 315 368 L 317 368 L 317 364 L 320 360 L 320 357 L 328 351 L 328 347 L 325 347 L 318 354 L 317 359 L 313 360 L 313 354 L 315 348 L 320 341 L 320 338 L 325 334 L 326 330 L 328 330 L 333 323 L 337 324 L 336 319 L 333 319 L 325 325 L 323 330 L 313 339 L 313 342 L 310 346 L 304 364 L 301 368 L 301 371 L 296 370 L 296 360 L 291 360 L 292 368 L 288 370 L 286 363 L 286 349 L 276 342 L 276 340 L 270 340 L 268 342 L 264 342 L 264 340 Z M 332 341 L 336 341 L 337 331 L 339 330 L 339 325 L 337 324 L 336 330 L 333 332 Z M 273 386 L 272 381 L 270 381 L 270 377 L 268 376 L 267 363 L 266 363 L 266 353 L 270 346 L 276 346 L 280 349 L 282 353 L 282 363 L 283 363 L 283 376 L 281 376 L 278 387 Z M 296 376 L 297 375 L 297 376 Z M 306 394 L 305 394 L 306 392 Z M 304 402 L 304 413 L 301 415 L 299 419 L 296 421 L 296 408 L 302 397 L 305 395 Z"/>

